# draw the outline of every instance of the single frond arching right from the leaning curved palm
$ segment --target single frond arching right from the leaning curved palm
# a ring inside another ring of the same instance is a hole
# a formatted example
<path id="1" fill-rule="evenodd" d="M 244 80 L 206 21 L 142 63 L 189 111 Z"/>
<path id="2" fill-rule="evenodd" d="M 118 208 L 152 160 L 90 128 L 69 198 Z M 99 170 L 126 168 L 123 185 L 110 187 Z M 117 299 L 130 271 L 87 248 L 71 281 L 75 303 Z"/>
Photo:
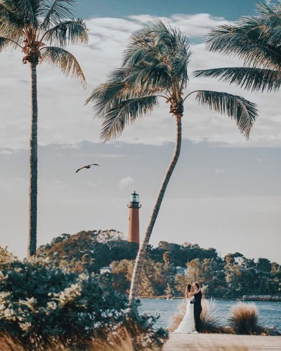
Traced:
<path id="1" fill-rule="evenodd" d="M 226 114 L 234 119 L 240 132 L 246 139 L 249 138 L 250 130 L 258 116 L 256 104 L 241 96 L 206 90 L 198 91 L 196 100 L 211 111 Z"/>

